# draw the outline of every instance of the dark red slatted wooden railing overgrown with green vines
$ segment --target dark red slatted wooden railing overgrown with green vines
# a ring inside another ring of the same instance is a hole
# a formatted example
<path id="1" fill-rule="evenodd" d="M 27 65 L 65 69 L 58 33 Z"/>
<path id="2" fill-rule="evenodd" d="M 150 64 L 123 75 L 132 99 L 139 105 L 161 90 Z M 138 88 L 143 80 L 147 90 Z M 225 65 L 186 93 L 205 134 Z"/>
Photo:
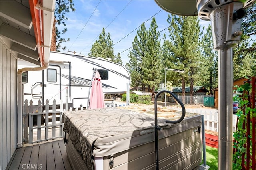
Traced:
<path id="1" fill-rule="evenodd" d="M 241 165 L 241 170 L 256 170 L 256 81 L 255 77 L 244 82 L 247 83 L 250 89 L 244 89 L 242 94 L 242 99 L 248 101 L 242 104 L 242 113 L 240 113 L 240 119 L 237 119 L 238 128 L 236 129 L 237 134 L 243 134 L 242 140 L 246 140 L 243 146 L 240 148 L 237 144 L 241 141 L 240 138 L 237 138 L 238 141 L 234 141 L 233 154 L 239 155 L 239 161 L 234 160 L 234 163 Z M 241 142 L 240 142 L 241 143 Z M 235 147 L 236 146 L 236 147 Z M 238 157 L 238 156 L 237 156 Z"/>

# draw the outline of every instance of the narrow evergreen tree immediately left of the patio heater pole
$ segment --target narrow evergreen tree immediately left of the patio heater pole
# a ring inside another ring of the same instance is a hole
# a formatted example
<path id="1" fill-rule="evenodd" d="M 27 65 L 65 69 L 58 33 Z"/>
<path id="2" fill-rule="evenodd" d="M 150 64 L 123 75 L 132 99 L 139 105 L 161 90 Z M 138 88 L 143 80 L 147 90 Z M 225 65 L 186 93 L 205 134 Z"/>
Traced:
<path id="1" fill-rule="evenodd" d="M 213 49 L 212 29 L 209 25 L 202 38 L 202 57 L 199 83 L 212 89 L 218 86 L 218 52 Z"/>

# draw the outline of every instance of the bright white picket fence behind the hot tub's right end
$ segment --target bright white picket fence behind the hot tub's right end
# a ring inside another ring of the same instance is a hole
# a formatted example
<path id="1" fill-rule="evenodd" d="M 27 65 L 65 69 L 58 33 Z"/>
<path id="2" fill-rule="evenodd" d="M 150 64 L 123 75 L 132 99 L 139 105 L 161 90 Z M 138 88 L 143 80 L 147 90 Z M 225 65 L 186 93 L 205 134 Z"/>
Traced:
<path id="1" fill-rule="evenodd" d="M 176 108 L 176 110 L 180 110 L 180 108 Z M 219 123 L 218 123 L 218 111 L 209 111 L 209 110 L 203 110 L 203 109 L 198 109 L 198 108 L 186 108 L 186 112 L 189 113 L 198 113 L 200 115 L 204 115 L 204 126 L 206 130 L 211 130 L 214 132 L 219 132 Z M 233 132 L 236 131 L 236 121 L 237 121 L 237 116 L 233 114 L 232 118 L 232 127 L 233 127 Z"/>

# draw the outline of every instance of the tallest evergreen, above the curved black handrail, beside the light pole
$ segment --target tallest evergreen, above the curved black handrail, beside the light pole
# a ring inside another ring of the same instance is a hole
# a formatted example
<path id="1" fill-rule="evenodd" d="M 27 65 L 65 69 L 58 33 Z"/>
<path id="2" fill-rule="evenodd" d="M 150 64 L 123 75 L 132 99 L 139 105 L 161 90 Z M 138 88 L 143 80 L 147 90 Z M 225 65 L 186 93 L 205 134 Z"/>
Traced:
<path id="1" fill-rule="evenodd" d="M 198 72 L 200 26 L 196 16 L 168 15 L 170 23 L 170 50 L 175 55 L 175 64 L 185 71 L 182 76 L 182 102 L 185 102 L 185 85 L 190 83 L 190 95 Z"/>

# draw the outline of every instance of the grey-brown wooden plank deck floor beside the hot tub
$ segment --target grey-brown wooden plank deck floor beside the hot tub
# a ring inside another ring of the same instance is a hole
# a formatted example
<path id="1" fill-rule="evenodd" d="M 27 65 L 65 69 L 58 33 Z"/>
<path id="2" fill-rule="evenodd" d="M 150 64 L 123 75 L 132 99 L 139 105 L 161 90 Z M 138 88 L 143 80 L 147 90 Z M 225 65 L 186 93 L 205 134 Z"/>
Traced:
<path id="1" fill-rule="evenodd" d="M 22 169 L 72 170 L 63 139 L 16 149 L 6 170 Z"/>

